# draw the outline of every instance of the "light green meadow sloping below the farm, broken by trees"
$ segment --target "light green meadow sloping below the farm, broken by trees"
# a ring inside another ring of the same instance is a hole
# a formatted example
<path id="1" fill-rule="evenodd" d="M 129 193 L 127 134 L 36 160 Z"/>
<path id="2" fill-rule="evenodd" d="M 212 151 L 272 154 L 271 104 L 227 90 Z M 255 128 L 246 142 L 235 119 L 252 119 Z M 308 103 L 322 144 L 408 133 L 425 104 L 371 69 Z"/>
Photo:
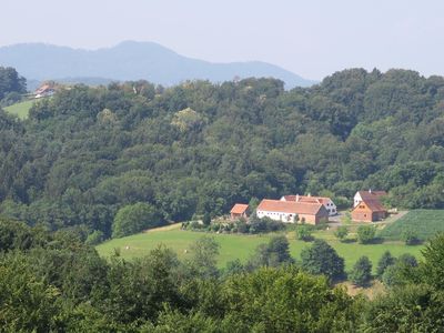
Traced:
<path id="1" fill-rule="evenodd" d="M 266 235 L 240 235 L 240 234 L 214 234 L 203 232 L 182 231 L 176 228 L 158 229 L 155 231 L 149 231 L 147 233 L 139 233 L 135 235 L 115 239 L 108 241 L 97 246 L 97 250 L 102 256 L 110 256 L 114 249 L 120 249 L 121 256 L 124 259 L 140 258 L 149 253 L 150 250 L 154 249 L 159 244 L 164 244 L 178 253 L 179 258 L 185 258 L 190 255 L 190 245 L 195 240 L 203 235 L 213 236 L 220 248 L 219 266 L 223 268 L 226 262 L 240 259 L 245 262 L 250 255 L 254 252 L 254 249 L 269 241 L 272 234 Z M 286 234 L 290 240 L 291 254 L 296 260 L 300 259 L 302 249 L 309 246 L 310 243 L 296 241 L 294 232 Z M 422 245 L 406 246 L 401 242 L 390 242 L 383 244 L 371 244 L 362 245 L 356 242 L 341 243 L 334 239 L 332 232 L 320 231 L 314 234 L 315 238 L 325 239 L 337 253 L 345 259 L 345 269 L 350 271 L 353 264 L 361 255 L 367 255 L 373 262 L 375 269 L 379 259 L 382 253 L 389 250 L 393 255 L 398 256 L 402 253 L 411 253 L 416 258 L 421 258 Z M 185 250 L 188 250 L 185 253 Z"/>

